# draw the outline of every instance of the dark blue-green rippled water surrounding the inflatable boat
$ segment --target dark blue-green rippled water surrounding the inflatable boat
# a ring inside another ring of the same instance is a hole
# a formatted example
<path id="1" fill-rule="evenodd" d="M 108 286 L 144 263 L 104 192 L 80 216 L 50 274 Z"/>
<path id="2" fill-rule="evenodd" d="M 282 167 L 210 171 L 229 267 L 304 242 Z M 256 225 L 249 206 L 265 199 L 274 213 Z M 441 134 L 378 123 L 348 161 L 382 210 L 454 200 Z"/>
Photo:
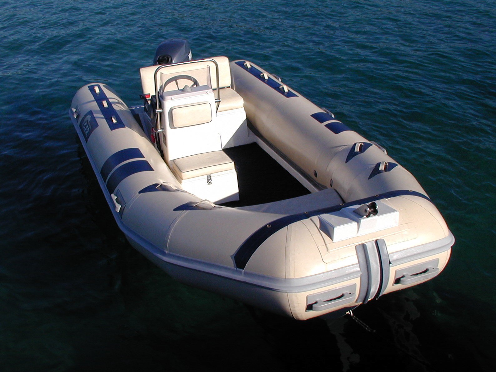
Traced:
<path id="1" fill-rule="evenodd" d="M 164 39 L 247 58 L 387 148 L 456 237 L 434 280 L 334 322 L 181 285 L 125 242 L 67 115 L 100 81 L 139 104 Z M 496 3 L 0 4 L 1 371 L 494 371 Z"/>

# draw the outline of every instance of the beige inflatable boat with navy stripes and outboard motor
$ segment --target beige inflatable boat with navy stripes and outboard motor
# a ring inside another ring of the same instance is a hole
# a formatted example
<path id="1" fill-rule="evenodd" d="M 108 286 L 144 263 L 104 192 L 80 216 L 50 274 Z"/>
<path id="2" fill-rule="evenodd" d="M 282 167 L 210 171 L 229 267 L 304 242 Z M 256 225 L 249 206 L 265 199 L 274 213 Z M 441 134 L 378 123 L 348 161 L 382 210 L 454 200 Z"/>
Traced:
<path id="1" fill-rule="evenodd" d="M 342 316 L 447 264 L 453 235 L 415 177 L 276 75 L 248 60 L 191 59 L 188 43 L 171 39 L 140 77 L 139 106 L 95 82 L 69 114 L 127 240 L 172 277 L 310 319 Z M 242 149 L 268 154 L 308 191 L 244 200 L 243 164 L 255 195 L 274 185 L 259 177 L 265 160 L 230 156 Z"/>

